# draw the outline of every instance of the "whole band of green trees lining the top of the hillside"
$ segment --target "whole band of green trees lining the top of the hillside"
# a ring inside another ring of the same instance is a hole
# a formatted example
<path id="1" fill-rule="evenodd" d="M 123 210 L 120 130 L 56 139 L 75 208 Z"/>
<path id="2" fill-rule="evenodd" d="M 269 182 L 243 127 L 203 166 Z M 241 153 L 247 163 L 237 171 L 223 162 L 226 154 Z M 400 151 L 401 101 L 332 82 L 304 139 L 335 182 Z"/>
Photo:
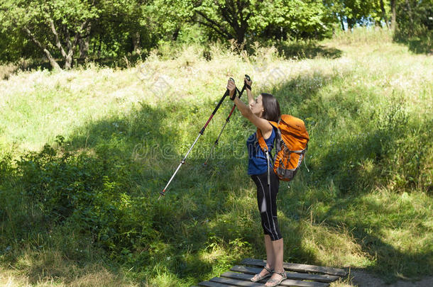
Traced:
<path id="1" fill-rule="evenodd" d="M 431 0 L 0 0 L 0 60 L 146 53 L 161 40 L 322 39 L 338 26 L 387 26 L 431 35 Z M 181 37 L 180 37 L 181 36 Z M 61 62 L 61 63 L 60 63 Z M 60 63 L 60 64 L 59 64 Z"/>

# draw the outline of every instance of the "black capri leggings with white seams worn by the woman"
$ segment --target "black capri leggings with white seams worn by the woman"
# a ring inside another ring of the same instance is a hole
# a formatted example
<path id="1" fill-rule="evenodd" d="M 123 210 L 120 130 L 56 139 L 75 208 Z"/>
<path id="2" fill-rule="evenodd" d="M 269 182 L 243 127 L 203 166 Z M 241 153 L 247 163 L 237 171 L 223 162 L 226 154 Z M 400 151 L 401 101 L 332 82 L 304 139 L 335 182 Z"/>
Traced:
<path id="1" fill-rule="evenodd" d="M 262 219 L 262 227 L 265 235 L 270 236 L 270 240 L 280 240 L 280 227 L 277 219 L 277 193 L 278 176 L 270 170 L 270 185 L 268 186 L 268 171 L 264 174 L 253 174 L 251 179 L 257 186 L 257 204 Z"/>

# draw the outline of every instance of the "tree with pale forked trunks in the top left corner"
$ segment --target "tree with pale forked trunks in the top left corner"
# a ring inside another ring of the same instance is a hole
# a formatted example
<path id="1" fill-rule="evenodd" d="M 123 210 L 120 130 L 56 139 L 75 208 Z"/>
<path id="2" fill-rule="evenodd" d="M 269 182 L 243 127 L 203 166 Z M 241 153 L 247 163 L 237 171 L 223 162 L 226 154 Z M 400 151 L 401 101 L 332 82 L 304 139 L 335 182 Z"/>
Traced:
<path id="1" fill-rule="evenodd" d="M 94 0 L 2 0 L 0 9 L 3 26 L 24 33 L 55 69 L 60 69 L 58 54 L 70 69 L 78 40 L 86 37 L 84 32 L 98 12 Z"/>

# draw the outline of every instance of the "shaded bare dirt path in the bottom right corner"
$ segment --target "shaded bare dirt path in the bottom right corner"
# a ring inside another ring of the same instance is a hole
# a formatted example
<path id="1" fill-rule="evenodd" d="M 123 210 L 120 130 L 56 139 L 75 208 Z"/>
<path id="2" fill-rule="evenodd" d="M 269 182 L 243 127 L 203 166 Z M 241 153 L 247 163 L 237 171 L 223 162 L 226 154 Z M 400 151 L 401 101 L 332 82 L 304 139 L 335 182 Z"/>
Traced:
<path id="1" fill-rule="evenodd" d="M 420 281 L 399 280 L 392 284 L 385 283 L 382 279 L 375 277 L 365 271 L 352 270 L 351 284 L 359 287 L 433 287 L 433 276 L 422 278 Z"/>

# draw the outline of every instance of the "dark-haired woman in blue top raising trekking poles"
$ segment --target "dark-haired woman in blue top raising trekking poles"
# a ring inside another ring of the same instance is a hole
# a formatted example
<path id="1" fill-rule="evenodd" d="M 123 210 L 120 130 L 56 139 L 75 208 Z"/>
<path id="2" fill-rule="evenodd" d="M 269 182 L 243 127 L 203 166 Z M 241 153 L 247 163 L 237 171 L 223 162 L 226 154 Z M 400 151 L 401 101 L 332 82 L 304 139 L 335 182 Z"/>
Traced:
<path id="1" fill-rule="evenodd" d="M 236 86 L 233 81 L 229 80 L 227 89 L 230 92 L 230 99 L 234 101 L 242 116 L 261 130 L 270 152 L 273 149 L 276 134 L 273 125 L 268 120 L 275 122 L 280 120 L 280 105 L 271 94 L 260 94 L 254 100 L 251 89 L 249 89 L 253 82 L 248 81 L 248 79 L 244 81 L 249 86 L 246 88 L 249 106 L 246 106 L 238 97 L 234 96 Z M 248 175 L 251 176 L 257 186 L 257 203 L 261 213 L 266 249 L 266 266 L 260 273 L 251 278 L 251 281 L 257 282 L 270 277 L 265 286 L 278 286 L 281 281 L 287 278 L 283 268 L 283 237 L 277 220 L 276 198 L 279 180 L 273 168 L 269 167 L 270 183 L 268 185 L 268 161 L 265 153 L 258 145 L 256 133 L 248 138 L 246 145 L 248 147 Z"/>

